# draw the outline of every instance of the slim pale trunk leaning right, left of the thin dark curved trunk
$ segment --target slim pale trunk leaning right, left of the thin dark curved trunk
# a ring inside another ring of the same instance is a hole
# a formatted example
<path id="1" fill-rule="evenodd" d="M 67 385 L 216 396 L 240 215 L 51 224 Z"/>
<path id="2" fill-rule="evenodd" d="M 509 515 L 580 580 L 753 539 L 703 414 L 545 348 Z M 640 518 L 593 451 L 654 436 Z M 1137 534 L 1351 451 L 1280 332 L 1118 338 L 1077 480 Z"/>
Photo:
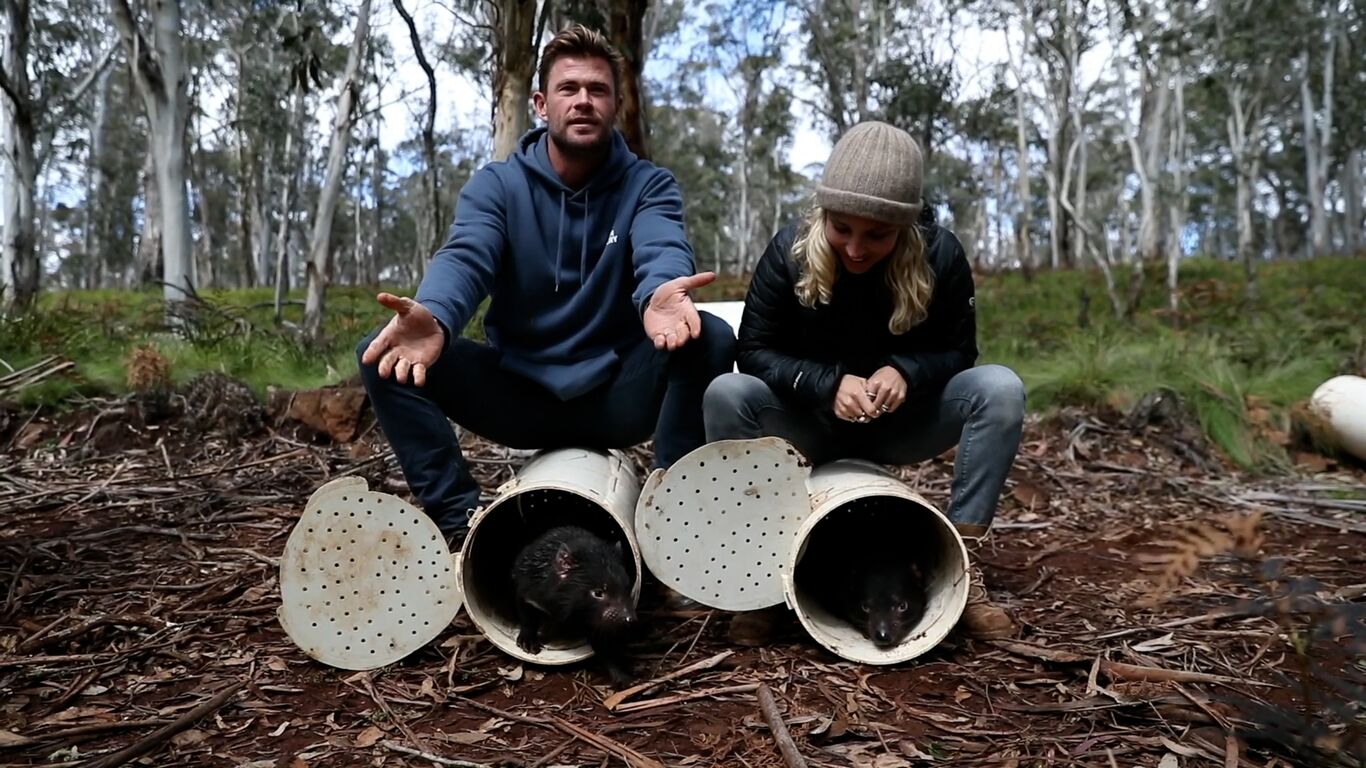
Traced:
<path id="1" fill-rule="evenodd" d="M 370 0 L 361 0 L 355 38 L 347 53 L 346 74 L 342 75 L 342 96 L 337 100 L 336 120 L 332 124 L 332 145 L 328 149 L 326 176 L 318 194 L 318 208 L 313 216 L 313 235 L 309 238 L 307 297 L 303 305 L 303 332 L 310 340 L 322 335 L 322 312 L 328 282 L 332 279 L 332 219 L 337 195 L 342 193 L 342 172 L 346 148 L 351 139 L 351 111 L 361 90 L 361 60 L 370 33 Z"/>

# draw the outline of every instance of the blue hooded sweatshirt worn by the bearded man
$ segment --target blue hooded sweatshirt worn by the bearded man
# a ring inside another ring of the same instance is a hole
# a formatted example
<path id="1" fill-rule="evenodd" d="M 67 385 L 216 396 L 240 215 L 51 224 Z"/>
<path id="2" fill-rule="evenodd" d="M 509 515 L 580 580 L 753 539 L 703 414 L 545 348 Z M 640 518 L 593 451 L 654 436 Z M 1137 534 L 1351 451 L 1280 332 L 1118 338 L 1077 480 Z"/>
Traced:
<path id="1" fill-rule="evenodd" d="M 568 400 L 612 377 L 645 339 L 654 290 L 693 275 L 694 261 L 671 172 L 613 130 L 602 167 L 572 190 L 548 142 L 546 128 L 527 131 L 512 156 L 464 184 L 417 301 L 449 339 L 492 294 L 484 328 L 503 368 Z"/>

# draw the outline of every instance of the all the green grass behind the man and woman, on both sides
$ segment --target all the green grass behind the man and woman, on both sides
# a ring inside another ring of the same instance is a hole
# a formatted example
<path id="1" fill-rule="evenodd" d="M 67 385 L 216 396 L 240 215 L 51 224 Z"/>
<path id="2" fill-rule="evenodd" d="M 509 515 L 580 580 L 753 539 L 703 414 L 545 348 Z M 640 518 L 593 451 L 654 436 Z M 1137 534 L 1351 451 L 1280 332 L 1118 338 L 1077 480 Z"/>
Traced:
<path id="1" fill-rule="evenodd" d="M 978 275 L 981 362 L 1015 369 L 1030 409 L 1085 404 L 1124 411 L 1168 388 L 1186 400 L 1201 428 L 1244 467 L 1274 467 L 1284 452 L 1259 439 L 1249 402 L 1272 410 L 1284 428 L 1290 406 L 1366 350 L 1366 258 L 1318 258 L 1262 265 L 1255 312 L 1243 301 L 1242 269 L 1210 260 L 1182 265 L 1180 323 L 1165 314 L 1162 276 L 1153 273 L 1137 312 L 1116 318 L 1093 272 Z M 721 276 L 698 301 L 743 299 L 747 280 Z M 393 292 L 410 292 L 387 286 Z M 46 354 L 78 364 L 79 376 L 55 377 L 22 395 L 26 403 L 124 389 L 124 359 L 152 344 L 178 383 L 205 370 L 266 387 L 310 388 L 355 374 L 355 343 L 387 320 L 373 288 L 328 294 L 324 340 L 305 344 L 294 329 L 303 307 L 285 306 L 285 327 L 272 318 L 269 288 L 205 291 L 212 307 L 171 335 L 160 292 L 79 291 L 42 297 L 36 312 L 0 318 L 0 361 L 20 368 Z M 1079 324 L 1082 294 L 1087 324 Z M 291 299 L 302 299 L 295 291 Z M 291 325 L 292 324 L 292 325 Z M 477 317 L 466 329 L 481 336 Z M 1361 362 L 1356 362 L 1361 365 Z"/>

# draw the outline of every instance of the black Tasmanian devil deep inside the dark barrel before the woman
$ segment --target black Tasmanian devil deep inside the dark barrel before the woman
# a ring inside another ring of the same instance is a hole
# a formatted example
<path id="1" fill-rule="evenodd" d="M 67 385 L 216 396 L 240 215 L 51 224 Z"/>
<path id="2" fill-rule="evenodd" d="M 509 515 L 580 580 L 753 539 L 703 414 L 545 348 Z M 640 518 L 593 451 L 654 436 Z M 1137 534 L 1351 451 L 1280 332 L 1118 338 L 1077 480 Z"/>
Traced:
<path id="1" fill-rule="evenodd" d="M 798 564 L 798 585 L 873 645 L 895 648 L 925 615 L 922 544 L 904 518 L 854 514 L 837 525 L 822 522 Z"/>

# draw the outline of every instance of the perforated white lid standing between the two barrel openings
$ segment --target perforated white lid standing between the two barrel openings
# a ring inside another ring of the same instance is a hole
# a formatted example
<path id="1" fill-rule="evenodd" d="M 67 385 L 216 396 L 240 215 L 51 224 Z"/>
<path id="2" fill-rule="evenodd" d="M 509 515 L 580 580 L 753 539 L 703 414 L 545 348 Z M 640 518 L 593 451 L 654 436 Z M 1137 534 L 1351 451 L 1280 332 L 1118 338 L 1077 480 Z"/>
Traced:
<path id="1" fill-rule="evenodd" d="M 788 549 L 810 514 L 809 463 L 779 437 L 708 443 L 656 470 L 635 507 L 650 573 L 723 611 L 783 603 Z"/>

